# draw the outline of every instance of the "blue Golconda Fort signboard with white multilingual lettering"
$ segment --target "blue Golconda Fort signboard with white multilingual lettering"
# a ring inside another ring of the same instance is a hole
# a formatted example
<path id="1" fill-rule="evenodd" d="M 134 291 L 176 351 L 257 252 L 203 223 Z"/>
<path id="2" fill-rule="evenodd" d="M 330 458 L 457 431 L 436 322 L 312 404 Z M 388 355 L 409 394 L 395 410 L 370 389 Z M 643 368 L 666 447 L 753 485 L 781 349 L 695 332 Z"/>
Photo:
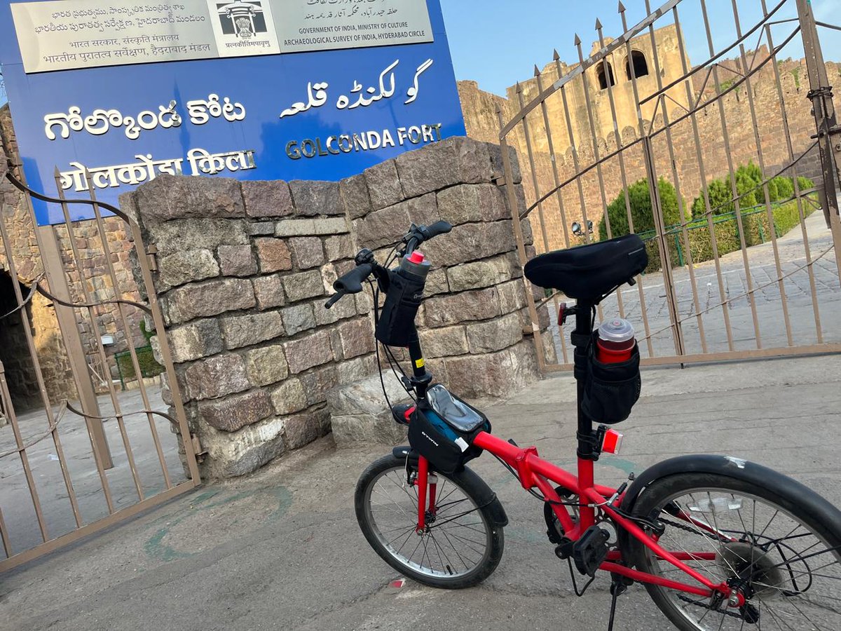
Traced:
<path id="1" fill-rule="evenodd" d="M 57 168 L 68 198 L 90 181 L 114 204 L 161 173 L 335 181 L 465 133 L 440 0 L 135 2 L 0 3 L 30 187 Z"/>

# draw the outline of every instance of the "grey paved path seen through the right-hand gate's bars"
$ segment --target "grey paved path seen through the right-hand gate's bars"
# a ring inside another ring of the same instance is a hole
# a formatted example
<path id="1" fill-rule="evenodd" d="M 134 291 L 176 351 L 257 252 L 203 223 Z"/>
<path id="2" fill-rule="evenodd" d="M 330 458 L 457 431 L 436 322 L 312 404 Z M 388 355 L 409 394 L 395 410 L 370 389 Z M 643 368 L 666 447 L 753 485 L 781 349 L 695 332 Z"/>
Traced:
<path id="1" fill-rule="evenodd" d="M 797 226 L 777 240 L 780 253 L 780 268 L 787 276 L 783 280 L 785 304 L 791 329 L 791 345 L 806 346 L 820 342 L 841 342 L 841 328 L 836 326 L 841 318 L 841 287 L 838 284 L 838 267 L 835 264 L 832 234 L 826 226 L 821 211 L 815 211 L 806 220 L 809 253 L 813 260 L 812 275 L 804 268 L 807 264 L 806 248 L 803 246 L 801 227 Z M 758 347 L 754 317 L 748 301 L 748 282 L 741 251 L 721 257 L 722 284 L 724 296 L 731 302 L 727 305 L 727 316 L 733 335 L 735 350 L 753 350 Z M 763 348 L 789 346 L 786 333 L 783 303 L 780 299 L 780 283 L 770 241 L 748 248 L 748 268 L 755 296 L 757 320 L 759 321 L 759 342 Z M 696 264 L 695 288 L 698 294 L 696 310 L 693 283 L 689 268 L 674 269 L 674 284 L 680 314 L 684 320 L 683 332 L 685 352 L 701 353 L 701 332 L 696 317 L 701 313 L 704 327 L 704 341 L 707 352 L 729 350 L 727 329 L 722 307 L 715 262 Z M 789 275 L 791 274 L 791 275 Z M 669 307 L 666 303 L 663 275 L 648 274 L 643 278 L 643 292 L 648 313 L 649 331 L 653 356 L 674 355 L 674 341 L 669 323 Z M 817 295 L 817 307 L 812 301 L 812 284 Z M 639 337 L 643 337 L 644 326 L 640 308 L 639 289 L 621 289 L 621 300 L 625 317 L 632 322 Z M 554 308 L 553 308 L 554 310 Z M 821 339 L 817 336 L 817 318 L 820 321 Z M 615 296 L 602 304 L 603 317 L 619 315 Z M 560 352 L 560 338 L 555 330 Z M 567 340 L 569 342 L 569 340 Z M 569 350 L 569 347 L 568 347 Z M 648 344 L 641 342 L 643 357 L 649 356 Z M 570 355 L 571 356 L 571 355 Z"/>

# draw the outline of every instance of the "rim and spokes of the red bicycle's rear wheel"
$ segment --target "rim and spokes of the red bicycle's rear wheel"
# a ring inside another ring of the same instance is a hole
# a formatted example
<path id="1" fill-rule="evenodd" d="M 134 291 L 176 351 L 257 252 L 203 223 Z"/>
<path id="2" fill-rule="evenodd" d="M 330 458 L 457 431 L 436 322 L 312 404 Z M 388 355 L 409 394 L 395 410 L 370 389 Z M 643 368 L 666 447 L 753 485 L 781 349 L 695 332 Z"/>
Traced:
<path id="1" fill-rule="evenodd" d="M 659 544 L 671 552 L 714 553 L 685 561 L 745 599 L 692 597 L 658 588 L 680 618 L 699 631 L 833 631 L 841 629 L 841 550 L 773 501 L 732 490 L 683 490 L 653 511 L 666 522 Z M 690 519 L 675 516 L 677 507 Z M 712 532 L 710 532 L 710 530 Z M 725 541 L 727 538 L 729 541 Z M 646 550 L 653 574 L 692 584 L 690 577 Z"/>

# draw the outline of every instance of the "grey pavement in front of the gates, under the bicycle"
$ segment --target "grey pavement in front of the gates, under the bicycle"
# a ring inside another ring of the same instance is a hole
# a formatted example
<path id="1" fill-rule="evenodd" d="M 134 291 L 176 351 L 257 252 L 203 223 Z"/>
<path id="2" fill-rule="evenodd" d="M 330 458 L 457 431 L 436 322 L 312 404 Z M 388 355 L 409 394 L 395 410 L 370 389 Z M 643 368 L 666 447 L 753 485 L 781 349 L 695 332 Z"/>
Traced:
<path id="1" fill-rule="evenodd" d="M 597 476 L 619 482 L 673 454 L 733 453 L 841 504 L 839 381 L 841 356 L 649 369 L 622 426 L 625 451 L 603 459 Z M 559 375 L 486 410 L 497 434 L 571 464 L 573 396 L 569 375 Z M 394 571 L 368 548 L 352 508 L 358 475 L 384 451 L 337 452 L 328 437 L 258 475 L 198 489 L 12 570 L 0 576 L 0 628 L 606 628 L 606 579 L 574 597 L 540 504 L 487 456 L 474 468 L 510 517 L 495 574 L 465 591 L 389 586 Z M 621 631 L 668 628 L 639 586 L 622 597 L 619 615 Z"/>

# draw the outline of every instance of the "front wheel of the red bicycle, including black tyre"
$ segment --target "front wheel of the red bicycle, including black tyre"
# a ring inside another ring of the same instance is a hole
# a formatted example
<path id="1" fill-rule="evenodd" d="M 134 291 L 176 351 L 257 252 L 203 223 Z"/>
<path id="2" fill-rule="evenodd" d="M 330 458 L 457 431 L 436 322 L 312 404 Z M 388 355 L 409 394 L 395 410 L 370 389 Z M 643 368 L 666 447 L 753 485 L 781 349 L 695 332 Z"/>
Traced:
<path id="1" fill-rule="evenodd" d="M 434 475 L 435 510 L 416 533 L 415 471 L 394 455 L 378 459 L 357 482 L 359 528 L 386 563 L 415 581 L 447 589 L 476 585 L 500 563 L 503 530 L 478 501 L 469 475 Z"/>

